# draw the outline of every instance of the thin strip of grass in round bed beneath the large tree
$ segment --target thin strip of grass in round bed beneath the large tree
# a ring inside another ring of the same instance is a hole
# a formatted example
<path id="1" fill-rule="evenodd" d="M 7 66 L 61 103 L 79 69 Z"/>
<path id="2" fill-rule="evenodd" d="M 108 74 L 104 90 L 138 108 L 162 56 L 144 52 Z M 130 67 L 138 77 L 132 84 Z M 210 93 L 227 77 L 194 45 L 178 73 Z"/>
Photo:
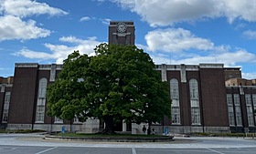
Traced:
<path id="1" fill-rule="evenodd" d="M 135 135 L 135 134 L 115 134 L 115 135 L 101 135 L 101 134 L 55 134 L 55 136 L 62 137 L 115 137 L 115 138 L 165 138 L 160 135 Z"/>

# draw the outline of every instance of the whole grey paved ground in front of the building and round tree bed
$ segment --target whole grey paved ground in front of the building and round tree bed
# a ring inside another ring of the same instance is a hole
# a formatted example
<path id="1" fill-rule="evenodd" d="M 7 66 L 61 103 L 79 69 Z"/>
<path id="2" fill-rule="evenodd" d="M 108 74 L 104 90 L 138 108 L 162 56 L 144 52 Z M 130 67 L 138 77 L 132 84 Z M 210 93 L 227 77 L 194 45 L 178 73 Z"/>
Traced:
<path id="1" fill-rule="evenodd" d="M 1 134 L 1 154 L 256 154 L 256 141 L 236 138 L 189 138 L 199 142 L 163 143 L 69 143 L 29 141 L 17 138 L 41 135 Z M 183 139 L 183 138 L 176 138 Z"/>

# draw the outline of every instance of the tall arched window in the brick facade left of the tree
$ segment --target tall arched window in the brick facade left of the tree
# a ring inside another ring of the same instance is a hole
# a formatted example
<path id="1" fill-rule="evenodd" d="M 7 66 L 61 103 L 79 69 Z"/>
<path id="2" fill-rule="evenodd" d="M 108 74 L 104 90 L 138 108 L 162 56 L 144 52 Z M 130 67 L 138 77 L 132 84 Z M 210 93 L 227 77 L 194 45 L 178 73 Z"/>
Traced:
<path id="1" fill-rule="evenodd" d="M 38 87 L 36 123 L 44 122 L 47 86 L 48 86 L 47 78 L 41 78 L 39 80 L 39 87 Z"/>

